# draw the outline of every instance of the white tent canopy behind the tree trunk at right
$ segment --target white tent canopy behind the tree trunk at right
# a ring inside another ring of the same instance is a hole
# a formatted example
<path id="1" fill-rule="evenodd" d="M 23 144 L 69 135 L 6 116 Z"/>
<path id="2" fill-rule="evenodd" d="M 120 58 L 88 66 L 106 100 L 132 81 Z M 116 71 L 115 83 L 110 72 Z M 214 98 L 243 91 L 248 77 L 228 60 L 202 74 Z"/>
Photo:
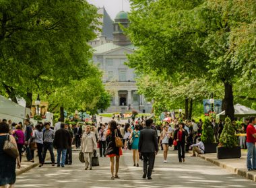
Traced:
<path id="1" fill-rule="evenodd" d="M 246 107 L 241 104 L 234 105 L 234 117 L 247 117 L 249 115 L 256 115 L 256 110 L 251 109 L 249 107 Z M 222 111 L 217 116 L 220 116 L 220 118 L 223 118 L 225 116 L 225 111 Z"/>

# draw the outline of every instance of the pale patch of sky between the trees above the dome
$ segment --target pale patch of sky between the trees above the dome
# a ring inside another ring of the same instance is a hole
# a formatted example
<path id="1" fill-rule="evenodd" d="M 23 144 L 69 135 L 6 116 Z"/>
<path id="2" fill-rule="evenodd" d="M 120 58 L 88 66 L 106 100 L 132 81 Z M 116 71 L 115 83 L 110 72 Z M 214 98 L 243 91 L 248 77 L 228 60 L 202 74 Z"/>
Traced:
<path id="1" fill-rule="evenodd" d="M 112 19 L 115 18 L 119 11 L 122 11 L 122 1 L 123 10 L 129 11 L 130 5 L 129 0 L 87 0 L 89 3 L 95 5 L 96 7 L 105 7 L 107 13 Z"/>

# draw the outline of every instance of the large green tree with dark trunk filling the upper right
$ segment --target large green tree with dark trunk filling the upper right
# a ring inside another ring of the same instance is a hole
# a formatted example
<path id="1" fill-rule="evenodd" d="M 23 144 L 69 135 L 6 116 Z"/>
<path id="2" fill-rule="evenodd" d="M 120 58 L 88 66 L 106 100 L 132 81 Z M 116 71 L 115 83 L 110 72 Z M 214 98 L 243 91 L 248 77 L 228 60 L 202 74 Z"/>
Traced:
<path id="1" fill-rule="evenodd" d="M 255 1 L 131 2 L 126 32 L 137 50 L 129 66 L 222 83 L 226 116 L 233 120 L 233 85 L 254 73 Z"/>

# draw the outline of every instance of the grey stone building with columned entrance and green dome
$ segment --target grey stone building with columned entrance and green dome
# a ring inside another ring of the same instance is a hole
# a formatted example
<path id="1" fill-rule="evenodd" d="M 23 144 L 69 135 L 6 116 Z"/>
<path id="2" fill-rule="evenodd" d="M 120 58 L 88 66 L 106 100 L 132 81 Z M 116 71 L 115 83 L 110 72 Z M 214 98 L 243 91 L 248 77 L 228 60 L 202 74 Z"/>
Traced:
<path id="1" fill-rule="evenodd" d="M 95 46 L 93 60 L 103 71 L 102 81 L 107 91 L 111 93 L 111 106 L 105 112 L 125 112 L 136 109 L 150 113 L 151 103 L 145 101 L 143 95 L 138 95 L 133 68 L 125 65 L 126 54 L 133 53 L 134 46 L 123 34 L 120 25 L 129 26 L 128 14 L 121 11 L 113 21 L 113 42 Z M 104 24 L 103 24 L 104 25 Z"/>

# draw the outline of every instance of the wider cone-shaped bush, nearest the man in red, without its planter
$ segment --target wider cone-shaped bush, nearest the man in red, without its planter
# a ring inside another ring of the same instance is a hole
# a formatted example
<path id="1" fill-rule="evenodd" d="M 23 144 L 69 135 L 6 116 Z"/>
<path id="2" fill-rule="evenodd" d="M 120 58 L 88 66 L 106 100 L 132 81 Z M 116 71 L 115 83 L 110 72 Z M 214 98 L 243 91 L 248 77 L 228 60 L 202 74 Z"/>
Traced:
<path id="1" fill-rule="evenodd" d="M 236 130 L 230 118 L 225 119 L 224 129 L 220 135 L 220 146 L 224 148 L 234 148 L 237 146 Z"/>

